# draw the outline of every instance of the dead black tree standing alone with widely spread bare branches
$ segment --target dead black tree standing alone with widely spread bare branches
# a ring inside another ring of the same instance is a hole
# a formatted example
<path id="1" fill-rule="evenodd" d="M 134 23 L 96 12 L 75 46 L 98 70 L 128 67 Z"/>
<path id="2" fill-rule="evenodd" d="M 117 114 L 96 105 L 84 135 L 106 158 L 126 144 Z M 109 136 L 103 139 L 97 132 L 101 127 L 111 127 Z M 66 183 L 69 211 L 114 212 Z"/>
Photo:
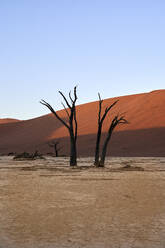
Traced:
<path id="1" fill-rule="evenodd" d="M 60 95 L 63 97 L 65 104 L 68 108 L 65 107 L 65 104 L 62 103 L 65 112 L 68 116 L 68 121 L 64 121 L 57 112 L 53 109 L 53 107 L 44 100 L 41 100 L 41 104 L 45 105 L 53 114 L 54 116 L 61 121 L 61 123 L 67 128 L 69 135 L 70 135 L 70 166 L 77 165 L 77 119 L 76 119 L 76 101 L 77 101 L 77 93 L 76 93 L 77 86 L 74 87 L 74 98 L 71 96 L 71 91 L 69 92 L 69 99 L 70 102 L 66 99 L 64 94 L 59 91 Z"/>

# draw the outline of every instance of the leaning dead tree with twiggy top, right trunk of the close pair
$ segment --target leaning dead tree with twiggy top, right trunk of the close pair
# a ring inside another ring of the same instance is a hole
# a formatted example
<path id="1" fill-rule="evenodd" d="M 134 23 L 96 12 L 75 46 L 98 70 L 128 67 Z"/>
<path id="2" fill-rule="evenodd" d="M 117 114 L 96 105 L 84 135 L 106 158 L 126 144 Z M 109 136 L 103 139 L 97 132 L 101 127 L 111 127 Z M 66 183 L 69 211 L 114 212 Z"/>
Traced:
<path id="1" fill-rule="evenodd" d="M 114 131 L 114 129 L 119 125 L 119 124 L 127 124 L 128 121 L 124 118 L 124 116 L 119 116 L 119 115 L 116 115 L 110 126 L 109 126 L 109 129 L 108 129 L 108 133 L 107 133 L 107 137 L 104 141 L 104 144 L 103 144 L 103 148 L 102 148 L 102 154 L 101 154 L 101 159 L 100 159 L 100 162 L 99 162 L 99 166 L 100 167 L 104 167 L 104 162 L 105 162 L 105 157 L 106 157 L 106 152 L 107 152 L 107 147 L 108 147 L 108 143 L 111 139 L 111 136 L 112 136 L 112 132 Z"/>

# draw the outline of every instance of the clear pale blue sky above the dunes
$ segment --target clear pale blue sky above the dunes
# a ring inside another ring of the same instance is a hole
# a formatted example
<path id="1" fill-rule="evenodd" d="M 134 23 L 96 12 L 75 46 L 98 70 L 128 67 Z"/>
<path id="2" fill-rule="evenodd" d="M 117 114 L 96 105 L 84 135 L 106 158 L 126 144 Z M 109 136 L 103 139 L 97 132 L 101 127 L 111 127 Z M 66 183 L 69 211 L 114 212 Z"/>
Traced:
<path id="1" fill-rule="evenodd" d="M 165 88 L 164 0 L 0 0 L 0 118 Z"/>

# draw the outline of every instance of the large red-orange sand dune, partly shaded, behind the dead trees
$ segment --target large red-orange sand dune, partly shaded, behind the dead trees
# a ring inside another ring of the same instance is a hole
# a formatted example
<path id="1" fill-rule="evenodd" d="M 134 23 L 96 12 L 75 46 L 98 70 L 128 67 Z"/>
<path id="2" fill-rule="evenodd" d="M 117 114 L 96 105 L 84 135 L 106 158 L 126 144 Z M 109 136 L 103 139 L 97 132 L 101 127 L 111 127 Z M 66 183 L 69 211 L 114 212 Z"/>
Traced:
<path id="1" fill-rule="evenodd" d="M 165 156 L 165 90 L 106 99 L 104 108 L 116 99 L 119 102 L 105 120 L 102 138 L 114 114 L 124 112 L 129 124 L 117 127 L 108 147 L 108 155 Z M 67 118 L 64 110 L 58 113 Z M 98 102 L 77 106 L 79 155 L 94 155 L 97 113 Z M 52 114 L 27 121 L 3 123 L 0 124 L 0 153 L 53 152 L 47 143 L 55 138 L 61 143 L 61 154 L 68 155 L 68 131 Z"/>

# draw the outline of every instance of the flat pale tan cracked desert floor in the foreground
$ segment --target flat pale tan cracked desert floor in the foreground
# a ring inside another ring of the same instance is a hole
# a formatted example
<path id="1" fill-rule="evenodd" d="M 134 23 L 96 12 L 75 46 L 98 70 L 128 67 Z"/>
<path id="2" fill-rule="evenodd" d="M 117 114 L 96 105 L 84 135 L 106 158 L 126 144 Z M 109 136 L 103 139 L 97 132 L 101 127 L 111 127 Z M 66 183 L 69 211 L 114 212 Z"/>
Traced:
<path id="1" fill-rule="evenodd" d="M 0 248 L 164 248 L 165 158 L 91 165 L 0 157 Z"/>

